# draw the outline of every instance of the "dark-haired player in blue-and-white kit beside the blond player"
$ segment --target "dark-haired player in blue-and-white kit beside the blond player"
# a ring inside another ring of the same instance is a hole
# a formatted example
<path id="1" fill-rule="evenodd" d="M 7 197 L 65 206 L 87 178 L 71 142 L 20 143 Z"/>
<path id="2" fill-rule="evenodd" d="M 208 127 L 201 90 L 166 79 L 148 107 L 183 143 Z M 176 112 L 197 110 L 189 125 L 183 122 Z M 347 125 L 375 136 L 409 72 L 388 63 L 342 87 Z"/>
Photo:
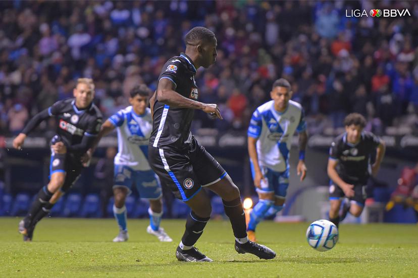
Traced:
<path id="1" fill-rule="evenodd" d="M 148 234 L 156 236 L 160 241 L 171 242 L 172 239 L 160 227 L 163 216 L 162 190 L 158 176 L 151 170 L 148 163 L 148 140 L 152 130 L 152 118 L 148 106 L 151 90 L 146 85 L 135 86 L 130 91 L 130 106 L 118 111 L 101 126 L 92 150 L 101 137 L 115 128 L 118 131 L 118 154 L 115 156 L 113 193 L 115 204 L 113 213 L 119 226 L 119 234 L 114 242 L 127 241 L 127 211 L 125 199 L 131 193 L 134 183 L 141 198 L 149 200 Z"/>

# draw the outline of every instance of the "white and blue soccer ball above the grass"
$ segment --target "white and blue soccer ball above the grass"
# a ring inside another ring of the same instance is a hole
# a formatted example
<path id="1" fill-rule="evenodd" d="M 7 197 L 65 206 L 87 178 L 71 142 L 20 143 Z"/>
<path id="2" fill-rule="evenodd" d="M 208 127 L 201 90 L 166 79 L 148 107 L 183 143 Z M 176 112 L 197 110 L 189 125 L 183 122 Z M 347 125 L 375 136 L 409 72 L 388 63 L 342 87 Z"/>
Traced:
<path id="1" fill-rule="evenodd" d="M 308 244 L 318 251 L 332 249 L 338 241 L 338 229 L 328 220 L 317 220 L 309 225 L 306 231 Z"/>

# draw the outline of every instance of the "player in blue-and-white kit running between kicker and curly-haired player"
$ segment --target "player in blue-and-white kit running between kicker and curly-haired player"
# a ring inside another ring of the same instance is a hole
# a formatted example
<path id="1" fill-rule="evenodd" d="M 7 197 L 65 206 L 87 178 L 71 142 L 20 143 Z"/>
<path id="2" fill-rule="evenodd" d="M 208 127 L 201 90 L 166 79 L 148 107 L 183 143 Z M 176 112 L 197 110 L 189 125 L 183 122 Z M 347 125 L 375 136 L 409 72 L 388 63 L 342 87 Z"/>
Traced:
<path id="1" fill-rule="evenodd" d="M 299 103 L 290 100 L 292 92 L 287 80 L 273 84 L 273 100 L 258 107 L 248 127 L 248 153 L 258 203 L 250 213 L 247 234 L 256 241 L 255 228 L 268 216 L 276 215 L 284 206 L 289 186 L 289 150 L 295 131 L 299 133 L 299 162 L 297 174 L 306 176 L 306 123 Z"/>

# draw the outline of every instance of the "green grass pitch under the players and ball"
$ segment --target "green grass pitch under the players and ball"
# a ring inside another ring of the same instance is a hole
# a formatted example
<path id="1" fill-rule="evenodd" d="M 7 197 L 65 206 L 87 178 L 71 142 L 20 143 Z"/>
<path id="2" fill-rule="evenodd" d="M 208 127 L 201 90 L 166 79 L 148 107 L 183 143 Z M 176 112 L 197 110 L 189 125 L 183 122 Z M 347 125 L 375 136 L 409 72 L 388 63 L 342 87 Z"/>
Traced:
<path id="1" fill-rule="evenodd" d="M 128 221 L 130 239 L 113 243 L 113 219 L 45 219 L 34 241 L 22 242 L 20 219 L 0 218 L 0 277 L 416 277 L 418 226 L 342 225 L 340 242 L 318 252 L 305 239 L 307 223 L 258 226 L 273 260 L 235 252 L 229 222 L 211 221 L 197 243 L 213 263 L 184 263 L 175 249 L 184 220 L 164 220 L 174 239 L 160 243 L 146 220 Z"/>

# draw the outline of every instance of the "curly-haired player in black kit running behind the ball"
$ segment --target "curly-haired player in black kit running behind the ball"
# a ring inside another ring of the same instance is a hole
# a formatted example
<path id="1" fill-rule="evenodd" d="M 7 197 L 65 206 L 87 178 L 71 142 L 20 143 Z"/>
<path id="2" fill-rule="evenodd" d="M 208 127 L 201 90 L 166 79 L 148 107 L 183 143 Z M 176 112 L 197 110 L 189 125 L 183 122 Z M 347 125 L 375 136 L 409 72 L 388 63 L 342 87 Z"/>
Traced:
<path id="1" fill-rule="evenodd" d="M 376 176 L 385 155 L 385 143 L 371 132 L 363 131 L 364 117 L 351 113 L 344 119 L 345 132 L 335 138 L 330 148 L 330 221 L 337 227 L 347 213 L 359 217 L 366 198 L 365 188 L 371 174 Z M 376 152 L 375 163 L 370 165 Z M 341 201 L 346 197 L 341 213 Z"/>

